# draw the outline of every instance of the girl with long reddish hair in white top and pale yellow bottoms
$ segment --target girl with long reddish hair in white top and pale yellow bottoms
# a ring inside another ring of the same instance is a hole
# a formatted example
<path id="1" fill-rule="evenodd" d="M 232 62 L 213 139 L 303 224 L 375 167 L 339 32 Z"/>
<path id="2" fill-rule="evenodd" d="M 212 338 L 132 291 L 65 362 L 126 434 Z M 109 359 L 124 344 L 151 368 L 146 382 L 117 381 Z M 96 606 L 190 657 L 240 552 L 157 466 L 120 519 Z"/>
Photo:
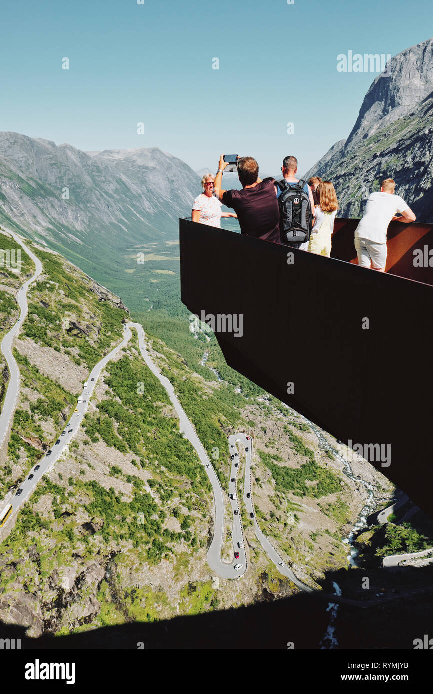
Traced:
<path id="1" fill-rule="evenodd" d="M 309 237 L 308 250 L 330 257 L 334 219 L 339 208 L 337 195 L 330 180 L 323 180 L 316 188 L 319 204 L 314 208 L 314 225 Z"/>

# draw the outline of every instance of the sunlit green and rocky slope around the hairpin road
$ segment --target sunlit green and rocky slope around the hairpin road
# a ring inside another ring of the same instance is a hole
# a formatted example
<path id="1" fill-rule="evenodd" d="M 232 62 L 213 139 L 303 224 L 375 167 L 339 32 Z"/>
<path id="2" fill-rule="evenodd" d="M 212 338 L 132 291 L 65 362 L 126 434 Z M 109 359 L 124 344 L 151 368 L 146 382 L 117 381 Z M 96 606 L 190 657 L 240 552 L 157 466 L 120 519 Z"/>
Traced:
<path id="1" fill-rule="evenodd" d="M 56 440 L 90 368 L 120 341 L 127 316 L 117 296 L 62 256 L 29 243 L 44 273 L 29 291 L 28 317 L 16 342 L 22 389 L 0 461 L 3 495 Z M 345 566 L 343 529 L 366 494 L 354 495 L 341 462 L 296 413 L 253 389 L 239 392 L 217 380 L 208 362 L 197 373 L 144 327 L 151 358 L 171 380 L 223 489 L 230 471 L 227 437 L 248 431 L 262 530 L 312 585 L 325 570 Z M 194 343 L 202 339 L 212 355 L 203 333 Z M 244 464 L 241 455 L 239 496 Z M 382 486 L 379 473 L 368 464 L 359 469 L 377 498 L 386 498 L 389 485 Z M 219 579 L 206 563 L 213 532 L 210 483 L 179 433 L 166 391 L 144 365 L 134 333 L 101 374 L 69 450 L 44 475 L 0 545 L 0 620 L 26 625 L 33 636 L 60 635 L 293 593 L 245 513 L 243 522 L 248 572 L 241 582 Z M 227 511 L 226 561 L 233 552 L 230 527 Z"/>

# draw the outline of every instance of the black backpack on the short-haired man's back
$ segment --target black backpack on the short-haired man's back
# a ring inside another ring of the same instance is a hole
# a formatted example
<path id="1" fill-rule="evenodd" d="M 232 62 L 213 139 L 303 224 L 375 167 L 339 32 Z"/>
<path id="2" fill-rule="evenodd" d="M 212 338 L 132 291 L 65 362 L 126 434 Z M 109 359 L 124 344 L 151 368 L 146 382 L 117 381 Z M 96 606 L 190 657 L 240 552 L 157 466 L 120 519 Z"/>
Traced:
<path id="1" fill-rule="evenodd" d="M 312 211 L 309 196 L 303 190 L 304 180 L 298 183 L 288 183 L 285 178 L 276 180 L 280 188 L 278 198 L 280 208 L 280 241 L 286 246 L 303 244 L 309 241 L 312 228 Z"/>

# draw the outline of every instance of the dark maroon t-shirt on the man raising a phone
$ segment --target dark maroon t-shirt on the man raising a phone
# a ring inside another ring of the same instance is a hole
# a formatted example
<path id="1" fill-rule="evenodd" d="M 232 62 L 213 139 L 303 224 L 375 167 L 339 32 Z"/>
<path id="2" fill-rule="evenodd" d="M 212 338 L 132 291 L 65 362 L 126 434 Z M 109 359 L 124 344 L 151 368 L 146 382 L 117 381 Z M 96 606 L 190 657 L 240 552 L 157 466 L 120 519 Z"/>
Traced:
<path id="1" fill-rule="evenodd" d="M 226 190 L 222 201 L 235 210 L 242 234 L 280 243 L 280 210 L 273 178 L 264 178 L 253 188 Z"/>

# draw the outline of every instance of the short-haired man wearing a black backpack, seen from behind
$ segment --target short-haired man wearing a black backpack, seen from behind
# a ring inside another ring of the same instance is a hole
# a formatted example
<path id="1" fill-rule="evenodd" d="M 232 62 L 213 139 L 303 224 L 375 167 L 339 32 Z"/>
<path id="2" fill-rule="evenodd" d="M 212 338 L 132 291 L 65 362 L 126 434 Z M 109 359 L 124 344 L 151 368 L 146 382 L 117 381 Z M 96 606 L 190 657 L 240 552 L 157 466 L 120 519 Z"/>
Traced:
<path id="1" fill-rule="evenodd" d="M 285 157 L 281 171 L 283 178 L 274 185 L 280 208 L 280 242 L 307 251 L 314 220 L 312 189 L 305 180 L 296 178 L 296 157 Z"/>

